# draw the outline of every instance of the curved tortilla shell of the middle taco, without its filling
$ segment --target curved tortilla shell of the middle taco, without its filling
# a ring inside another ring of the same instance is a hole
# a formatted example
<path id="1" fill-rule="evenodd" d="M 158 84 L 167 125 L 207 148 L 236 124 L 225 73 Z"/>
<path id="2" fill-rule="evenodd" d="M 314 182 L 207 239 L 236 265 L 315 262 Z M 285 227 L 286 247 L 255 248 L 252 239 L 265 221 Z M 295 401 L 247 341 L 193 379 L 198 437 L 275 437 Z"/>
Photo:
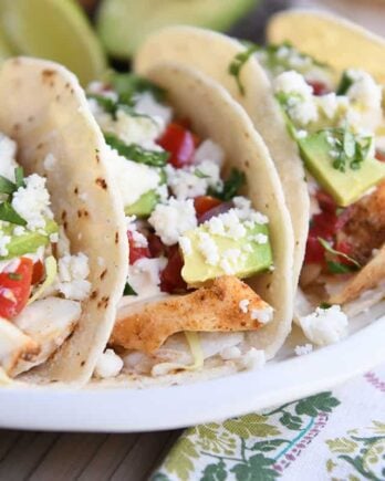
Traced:
<path id="1" fill-rule="evenodd" d="M 173 63 L 159 64 L 147 79 L 167 91 L 176 114 L 191 121 L 201 138 L 211 138 L 226 153 L 226 168 L 236 167 L 247 176 L 246 196 L 269 217 L 274 271 L 248 280 L 256 292 L 274 309 L 271 323 L 250 333 L 249 341 L 272 357 L 290 332 L 293 313 L 293 233 L 283 191 L 269 150 L 244 111 L 227 91 L 197 71 Z"/>

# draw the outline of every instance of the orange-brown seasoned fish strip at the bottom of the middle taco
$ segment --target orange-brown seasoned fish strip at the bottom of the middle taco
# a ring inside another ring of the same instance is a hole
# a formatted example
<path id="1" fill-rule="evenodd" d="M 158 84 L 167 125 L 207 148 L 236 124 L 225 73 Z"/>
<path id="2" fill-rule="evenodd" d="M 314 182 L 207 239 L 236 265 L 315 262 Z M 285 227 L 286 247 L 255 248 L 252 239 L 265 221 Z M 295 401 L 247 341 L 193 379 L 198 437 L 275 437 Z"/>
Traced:
<path id="1" fill-rule="evenodd" d="M 249 303 L 242 310 L 240 302 L 244 300 Z M 230 275 L 218 278 L 212 285 L 191 294 L 137 304 L 139 307 L 129 304 L 121 310 L 110 344 L 147 354 L 181 331 L 257 330 L 261 323 L 252 318 L 253 310 L 258 313 L 270 307 L 251 287 Z"/>

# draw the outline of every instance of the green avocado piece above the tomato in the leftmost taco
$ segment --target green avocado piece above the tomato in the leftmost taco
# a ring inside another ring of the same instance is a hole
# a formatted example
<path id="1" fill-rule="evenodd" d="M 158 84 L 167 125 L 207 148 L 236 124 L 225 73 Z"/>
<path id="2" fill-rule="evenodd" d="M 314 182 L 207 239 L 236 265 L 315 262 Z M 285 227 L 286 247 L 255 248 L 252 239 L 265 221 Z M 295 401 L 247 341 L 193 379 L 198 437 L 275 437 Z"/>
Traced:
<path id="1" fill-rule="evenodd" d="M 40 247 L 46 245 L 50 242 L 51 233 L 55 233 L 59 230 L 56 222 L 51 219 L 46 220 L 45 233 L 25 231 L 22 236 L 14 236 L 12 233 L 13 228 L 14 226 L 12 224 L 2 228 L 3 234 L 10 236 L 11 241 L 7 245 L 8 255 L 0 258 L 0 260 L 19 258 L 20 255 L 35 252 Z"/>

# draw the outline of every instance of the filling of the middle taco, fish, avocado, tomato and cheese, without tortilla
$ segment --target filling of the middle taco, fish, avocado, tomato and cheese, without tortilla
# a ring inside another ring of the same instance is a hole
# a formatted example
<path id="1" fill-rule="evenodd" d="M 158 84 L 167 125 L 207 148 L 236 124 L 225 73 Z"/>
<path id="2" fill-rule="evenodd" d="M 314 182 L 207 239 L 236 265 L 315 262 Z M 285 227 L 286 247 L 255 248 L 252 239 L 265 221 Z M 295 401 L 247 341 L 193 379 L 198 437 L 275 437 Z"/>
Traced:
<path id="1" fill-rule="evenodd" d="M 156 376 L 207 358 L 260 363 L 263 353 L 242 333 L 263 327 L 273 309 L 242 280 L 273 270 L 273 257 L 269 219 L 240 194 L 244 174 L 227 171 L 221 146 L 196 135 L 147 80 L 92 83 L 89 104 L 111 147 L 129 244 L 117 321 L 95 375 Z"/>

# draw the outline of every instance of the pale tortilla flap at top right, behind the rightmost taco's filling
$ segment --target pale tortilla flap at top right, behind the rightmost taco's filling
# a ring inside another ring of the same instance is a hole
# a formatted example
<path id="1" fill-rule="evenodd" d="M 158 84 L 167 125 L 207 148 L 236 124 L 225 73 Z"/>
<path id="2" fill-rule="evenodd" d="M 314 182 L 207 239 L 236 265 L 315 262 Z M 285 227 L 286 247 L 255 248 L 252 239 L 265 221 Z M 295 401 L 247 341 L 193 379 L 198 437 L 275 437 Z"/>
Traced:
<path id="1" fill-rule="evenodd" d="M 337 73 L 362 69 L 385 83 L 385 40 L 341 17 L 309 10 L 278 13 L 267 35 L 271 43 L 291 42 Z"/>

